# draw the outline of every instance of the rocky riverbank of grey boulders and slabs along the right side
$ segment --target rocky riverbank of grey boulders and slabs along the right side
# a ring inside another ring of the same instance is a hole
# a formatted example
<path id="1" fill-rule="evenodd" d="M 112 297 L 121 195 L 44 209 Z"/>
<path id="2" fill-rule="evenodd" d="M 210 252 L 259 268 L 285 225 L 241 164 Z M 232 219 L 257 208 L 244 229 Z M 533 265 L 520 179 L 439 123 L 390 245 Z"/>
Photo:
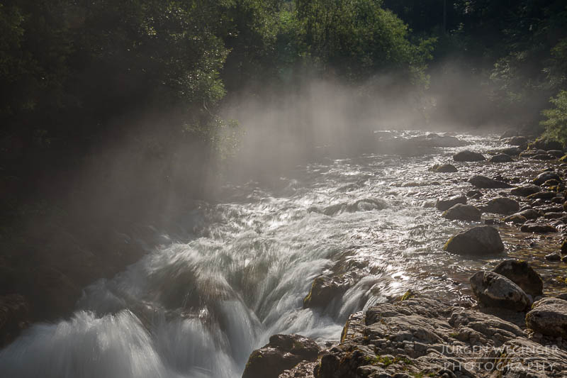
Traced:
<path id="1" fill-rule="evenodd" d="M 429 148 L 439 138 L 424 140 Z M 444 250 L 500 260 L 468 279 L 469 300 L 408 291 L 352 314 L 340 342 L 320 345 L 317 357 L 297 352 L 304 349 L 301 336 L 274 338 L 296 340 L 291 347 L 270 340 L 252 353 L 243 377 L 567 377 L 567 157 L 554 143 L 528 142 L 503 139 L 515 147 L 503 146 L 488 158 L 461 151 L 453 162 L 430 169 L 448 175 L 471 172 L 468 191 L 448 189 L 449 195 L 434 204 L 439 216 L 463 228 Z M 501 165 L 500 172 L 488 177 L 482 172 L 487 165 Z M 522 169 L 515 169 L 519 165 Z M 324 311 L 364 276 L 363 270 L 347 259 L 337 262 L 313 281 L 304 307 Z M 305 343 L 313 349 L 313 341 Z M 282 359 L 293 360 L 285 371 L 274 362 Z"/>

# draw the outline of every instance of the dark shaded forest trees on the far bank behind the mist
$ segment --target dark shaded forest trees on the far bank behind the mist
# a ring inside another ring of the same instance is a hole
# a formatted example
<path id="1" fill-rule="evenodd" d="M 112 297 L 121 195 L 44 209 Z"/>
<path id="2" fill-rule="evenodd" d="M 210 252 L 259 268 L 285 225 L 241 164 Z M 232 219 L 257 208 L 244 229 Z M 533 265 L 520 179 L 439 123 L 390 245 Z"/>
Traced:
<path id="1" fill-rule="evenodd" d="M 542 122 L 565 142 L 566 23 L 563 0 L 2 1 L 2 287 L 40 295 L 13 287 L 39 260 L 82 287 L 99 273 L 45 262 L 49 240 L 101 250 L 105 230 L 205 195 L 242 93 L 411 87 L 432 124 Z"/>

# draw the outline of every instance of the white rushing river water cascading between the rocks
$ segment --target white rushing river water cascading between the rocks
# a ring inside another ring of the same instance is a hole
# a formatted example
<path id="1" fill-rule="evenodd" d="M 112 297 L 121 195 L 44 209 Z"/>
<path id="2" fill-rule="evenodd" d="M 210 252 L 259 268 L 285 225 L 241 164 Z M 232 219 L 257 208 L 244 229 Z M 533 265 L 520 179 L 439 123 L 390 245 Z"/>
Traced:
<path id="1" fill-rule="evenodd" d="M 479 152 L 501 145 L 459 138 Z M 298 167 L 275 189 L 227 187 L 223 203 L 187 214 L 180 227 L 191 236 L 164 235 L 171 240 L 140 262 L 86 288 L 68 320 L 35 325 L 0 352 L 0 376 L 234 378 L 274 333 L 336 342 L 350 313 L 410 288 L 466 301 L 471 273 L 498 260 L 444 252 L 471 223 L 447 221 L 432 205 L 471 189 L 465 181 L 475 172 L 534 165 L 427 171 L 462 149 L 327 159 Z M 501 232 L 511 250 L 514 231 Z M 360 279 L 327 308 L 303 309 L 313 279 L 337 265 Z"/>

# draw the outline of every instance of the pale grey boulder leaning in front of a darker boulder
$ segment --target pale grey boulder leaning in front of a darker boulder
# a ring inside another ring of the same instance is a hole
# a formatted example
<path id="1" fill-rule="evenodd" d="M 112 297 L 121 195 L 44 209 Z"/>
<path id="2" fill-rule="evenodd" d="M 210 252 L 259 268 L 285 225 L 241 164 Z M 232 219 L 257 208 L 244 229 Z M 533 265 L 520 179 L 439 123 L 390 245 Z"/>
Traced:
<path id="1" fill-rule="evenodd" d="M 517 284 L 495 272 L 476 272 L 470 279 L 478 301 L 488 307 L 524 311 L 531 301 Z"/>

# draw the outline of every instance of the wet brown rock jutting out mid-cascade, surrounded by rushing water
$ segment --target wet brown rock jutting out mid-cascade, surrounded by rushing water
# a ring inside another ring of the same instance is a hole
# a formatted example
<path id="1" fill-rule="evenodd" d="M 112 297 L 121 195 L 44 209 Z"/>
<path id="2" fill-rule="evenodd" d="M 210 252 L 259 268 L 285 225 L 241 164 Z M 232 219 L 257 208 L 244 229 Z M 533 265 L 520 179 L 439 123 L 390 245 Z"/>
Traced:
<path id="1" fill-rule="evenodd" d="M 342 296 L 354 282 L 356 282 L 356 272 L 315 278 L 309 293 L 303 299 L 303 308 L 325 308 L 333 299 Z"/>

